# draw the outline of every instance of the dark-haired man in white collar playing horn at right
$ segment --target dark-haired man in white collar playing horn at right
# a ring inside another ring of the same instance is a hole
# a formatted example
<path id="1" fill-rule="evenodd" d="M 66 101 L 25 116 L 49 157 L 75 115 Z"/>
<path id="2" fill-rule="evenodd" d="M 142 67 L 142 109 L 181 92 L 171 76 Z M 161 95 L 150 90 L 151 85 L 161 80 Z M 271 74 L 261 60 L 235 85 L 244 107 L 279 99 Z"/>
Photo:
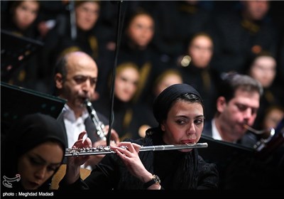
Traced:
<path id="1" fill-rule="evenodd" d="M 227 73 L 219 87 L 217 111 L 203 134 L 222 141 L 253 147 L 257 136 L 247 132 L 256 119 L 263 93 L 261 83 L 248 75 Z"/>

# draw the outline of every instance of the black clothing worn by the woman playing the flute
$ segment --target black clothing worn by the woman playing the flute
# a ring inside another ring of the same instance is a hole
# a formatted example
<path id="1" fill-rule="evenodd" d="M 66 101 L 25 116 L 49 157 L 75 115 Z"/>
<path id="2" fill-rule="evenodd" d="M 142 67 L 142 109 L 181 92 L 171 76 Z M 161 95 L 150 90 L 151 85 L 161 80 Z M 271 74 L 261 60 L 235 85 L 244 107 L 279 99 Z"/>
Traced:
<path id="1" fill-rule="evenodd" d="M 145 139 L 129 140 L 143 146 L 165 144 L 163 131 L 149 129 Z M 218 184 L 218 172 L 214 164 L 206 163 L 198 156 L 197 149 L 189 153 L 180 151 L 144 151 L 139 157 L 146 169 L 161 179 L 164 189 L 214 189 Z M 74 189 L 144 189 L 143 182 L 129 173 L 119 156 L 105 156 L 84 181 L 78 179 L 72 185 L 60 182 L 60 188 Z"/>

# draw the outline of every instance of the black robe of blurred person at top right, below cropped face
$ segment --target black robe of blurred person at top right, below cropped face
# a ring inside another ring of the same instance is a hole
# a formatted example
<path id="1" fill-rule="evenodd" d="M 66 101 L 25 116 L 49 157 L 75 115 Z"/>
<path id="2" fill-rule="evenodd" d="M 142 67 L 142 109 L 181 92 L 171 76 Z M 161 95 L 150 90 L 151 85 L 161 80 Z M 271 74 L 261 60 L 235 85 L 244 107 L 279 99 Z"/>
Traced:
<path id="1" fill-rule="evenodd" d="M 241 11 L 217 14 L 209 23 L 208 31 L 213 38 L 214 55 L 212 68 L 222 72 L 246 72 L 246 64 L 261 50 L 276 53 L 278 35 L 273 21 L 246 20 Z"/>

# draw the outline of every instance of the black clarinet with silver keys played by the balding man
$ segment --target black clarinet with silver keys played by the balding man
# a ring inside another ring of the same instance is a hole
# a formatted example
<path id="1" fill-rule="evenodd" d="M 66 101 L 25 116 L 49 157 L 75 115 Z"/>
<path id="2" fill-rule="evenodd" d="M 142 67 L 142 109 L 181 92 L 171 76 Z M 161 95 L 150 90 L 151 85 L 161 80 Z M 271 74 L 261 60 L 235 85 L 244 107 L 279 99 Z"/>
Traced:
<path id="1" fill-rule="evenodd" d="M 91 117 L 92 121 L 94 122 L 94 125 L 97 129 L 97 135 L 100 139 L 106 141 L 107 138 L 104 135 L 104 124 L 99 120 L 99 117 L 97 117 L 97 112 L 94 110 L 94 107 L 92 106 L 92 103 L 89 102 L 89 99 L 86 99 L 84 101 L 85 106 L 87 107 L 87 111 L 89 112 L 89 116 Z"/>

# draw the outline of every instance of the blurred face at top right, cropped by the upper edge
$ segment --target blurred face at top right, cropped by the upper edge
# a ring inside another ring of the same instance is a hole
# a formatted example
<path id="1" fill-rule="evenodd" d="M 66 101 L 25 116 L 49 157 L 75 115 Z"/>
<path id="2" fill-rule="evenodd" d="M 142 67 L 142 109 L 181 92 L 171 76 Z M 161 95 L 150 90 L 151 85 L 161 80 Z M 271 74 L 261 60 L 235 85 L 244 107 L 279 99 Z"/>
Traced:
<path id="1" fill-rule="evenodd" d="M 254 21 L 261 20 L 266 16 L 269 9 L 268 1 L 243 1 L 246 16 Z"/>

